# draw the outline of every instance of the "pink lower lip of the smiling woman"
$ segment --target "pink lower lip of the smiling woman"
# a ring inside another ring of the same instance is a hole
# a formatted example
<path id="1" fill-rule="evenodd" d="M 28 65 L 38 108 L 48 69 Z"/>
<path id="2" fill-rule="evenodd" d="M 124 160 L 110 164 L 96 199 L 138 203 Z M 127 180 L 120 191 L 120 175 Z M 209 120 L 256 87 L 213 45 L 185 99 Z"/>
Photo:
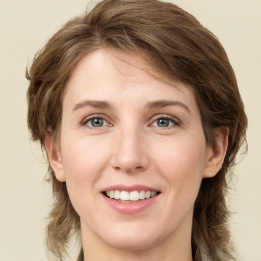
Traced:
<path id="1" fill-rule="evenodd" d="M 107 196 L 105 196 L 103 194 L 101 194 L 101 195 L 102 195 L 103 200 L 105 200 L 105 202 L 110 207 L 112 207 L 114 210 L 116 210 L 122 214 L 136 214 L 136 213 L 139 213 L 139 212 L 145 210 L 145 208 L 149 207 L 156 200 L 158 200 L 160 194 L 158 194 L 152 198 L 143 199 L 143 200 L 140 200 L 140 201 L 134 202 L 134 203 L 124 203 L 124 202 L 117 201 L 115 199 L 108 198 Z"/>

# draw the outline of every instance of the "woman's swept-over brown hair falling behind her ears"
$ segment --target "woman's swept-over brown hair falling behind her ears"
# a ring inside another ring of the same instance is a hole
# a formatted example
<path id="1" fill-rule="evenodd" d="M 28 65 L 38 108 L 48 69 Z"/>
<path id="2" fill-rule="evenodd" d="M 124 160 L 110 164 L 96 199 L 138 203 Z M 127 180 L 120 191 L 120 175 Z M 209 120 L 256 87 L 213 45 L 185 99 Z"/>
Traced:
<path id="1" fill-rule="evenodd" d="M 229 247 L 227 174 L 245 141 L 247 118 L 236 77 L 218 39 L 192 15 L 176 5 L 156 0 L 105 0 L 75 17 L 49 39 L 36 55 L 27 79 L 28 125 L 32 139 L 44 148 L 47 135 L 59 144 L 62 102 L 71 71 L 84 55 L 99 48 L 135 51 L 169 79 L 192 86 L 206 142 L 215 147 L 218 128 L 228 128 L 224 164 L 212 178 L 202 180 L 195 202 L 192 251 L 211 260 L 233 258 Z M 145 52 L 144 52 L 145 51 Z M 47 226 L 47 249 L 60 260 L 80 219 L 68 197 L 66 183 L 55 178 L 54 206 Z M 224 260 L 224 259 L 223 259 Z"/>

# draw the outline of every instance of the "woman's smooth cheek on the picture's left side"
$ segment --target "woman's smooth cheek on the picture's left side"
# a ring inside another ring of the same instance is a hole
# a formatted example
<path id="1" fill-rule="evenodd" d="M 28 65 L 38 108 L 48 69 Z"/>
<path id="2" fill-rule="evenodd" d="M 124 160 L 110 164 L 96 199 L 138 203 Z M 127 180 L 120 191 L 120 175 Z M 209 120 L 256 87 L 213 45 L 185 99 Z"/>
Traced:
<path id="1" fill-rule="evenodd" d="M 108 144 L 96 137 L 68 138 L 63 143 L 62 161 L 68 190 L 92 191 L 109 160 Z"/>

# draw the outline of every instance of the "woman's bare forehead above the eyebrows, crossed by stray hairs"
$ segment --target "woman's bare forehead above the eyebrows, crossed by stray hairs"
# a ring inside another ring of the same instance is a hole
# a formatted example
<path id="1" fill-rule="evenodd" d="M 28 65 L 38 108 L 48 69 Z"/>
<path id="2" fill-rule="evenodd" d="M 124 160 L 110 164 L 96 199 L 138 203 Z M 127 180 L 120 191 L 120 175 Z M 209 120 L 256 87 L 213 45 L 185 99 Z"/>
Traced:
<path id="1" fill-rule="evenodd" d="M 67 83 L 65 98 L 113 99 L 178 98 L 194 103 L 191 86 L 168 79 L 137 54 L 99 49 L 86 55 L 75 66 Z"/>

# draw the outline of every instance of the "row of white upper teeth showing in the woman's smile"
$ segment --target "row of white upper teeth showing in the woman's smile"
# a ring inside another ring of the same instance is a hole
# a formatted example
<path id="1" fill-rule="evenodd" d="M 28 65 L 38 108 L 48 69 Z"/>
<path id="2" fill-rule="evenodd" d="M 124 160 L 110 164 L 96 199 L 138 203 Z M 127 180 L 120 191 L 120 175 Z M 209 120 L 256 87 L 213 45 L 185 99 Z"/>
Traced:
<path id="1" fill-rule="evenodd" d="M 145 191 L 145 190 L 141 190 L 141 191 L 135 190 L 135 191 L 131 191 L 131 192 L 127 192 L 124 190 L 122 190 L 122 191 L 110 190 L 110 191 L 106 191 L 106 194 L 108 197 L 114 198 L 114 199 L 137 201 L 139 199 L 152 198 L 157 194 L 157 192 L 156 191 Z"/>

